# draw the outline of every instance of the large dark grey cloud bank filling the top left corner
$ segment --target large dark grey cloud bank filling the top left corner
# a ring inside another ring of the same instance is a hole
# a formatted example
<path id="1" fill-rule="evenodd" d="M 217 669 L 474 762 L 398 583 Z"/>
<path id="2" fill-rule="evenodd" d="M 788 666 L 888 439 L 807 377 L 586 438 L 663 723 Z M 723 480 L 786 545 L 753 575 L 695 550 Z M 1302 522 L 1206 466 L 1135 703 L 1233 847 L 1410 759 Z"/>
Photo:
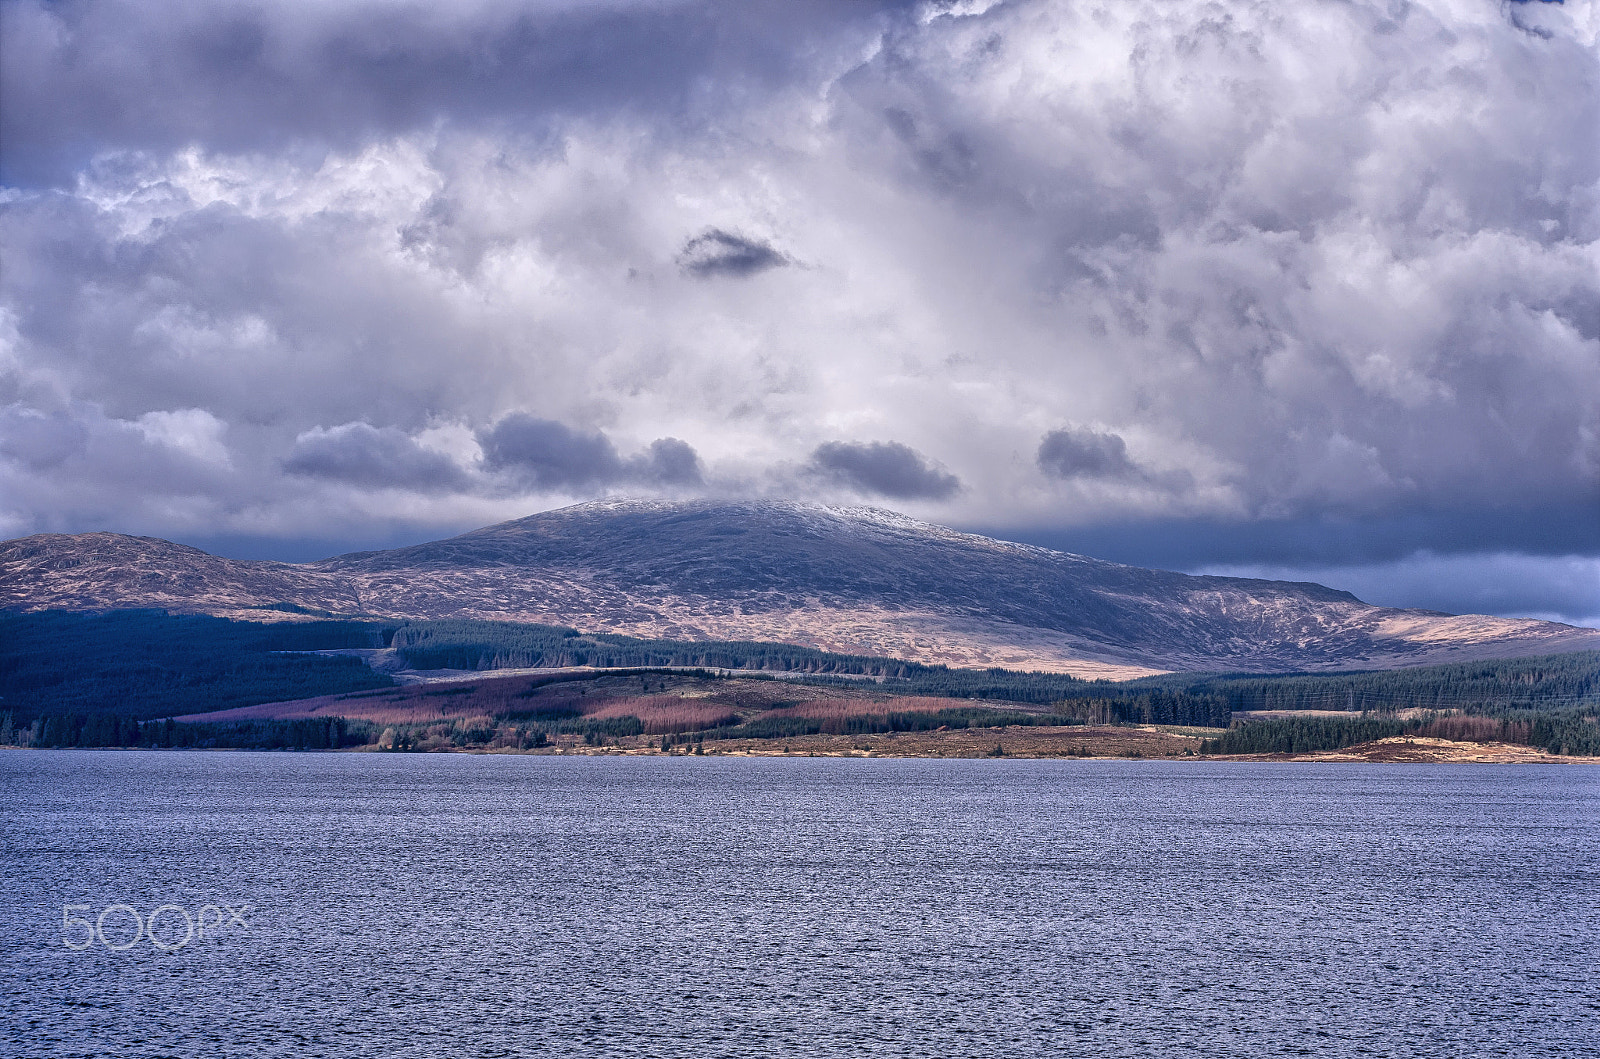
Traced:
<path id="1" fill-rule="evenodd" d="M 693 122 L 707 78 L 765 93 L 896 0 L 571 0 L 466 5 L 13 0 L 0 37 L 8 182 L 54 182 L 104 149 L 350 147 L 432 122 L 539 131 L 626 109 Z"/>

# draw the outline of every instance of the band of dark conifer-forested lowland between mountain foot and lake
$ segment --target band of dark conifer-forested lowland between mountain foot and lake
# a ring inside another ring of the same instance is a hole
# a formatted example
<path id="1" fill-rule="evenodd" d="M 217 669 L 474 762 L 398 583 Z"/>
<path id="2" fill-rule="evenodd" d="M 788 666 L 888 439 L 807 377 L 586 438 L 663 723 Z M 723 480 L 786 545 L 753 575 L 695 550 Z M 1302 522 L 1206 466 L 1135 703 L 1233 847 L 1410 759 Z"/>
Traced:
<path id="1" fill-rule="evenodd" d="M 400 686 L 360 657 L 310 654 L 352 648 L 389 649 L 410 670 L 475 670 L 482 678 Z M 507 667 L 568 672 L 494 675 Z M 242 707 L 261 707 L 261 715 L 216 717 Z M 1203 752 L 1227 755 L 1331 750 L 1397 734 L 1595 755 L 1597 709 L 1600 653 L 1109 683 L 509 622 L 0 614 L 0 741 L 13 745 L 526 750 L 563 739 L 592 747 L 659 737 L 670 749 L 811 734 L 1154 725 L 1211 729 Z M 1274 715 L 1254 715 L 1261 712 Z M 187 715 L 205 717 L 171 720 Z"/>

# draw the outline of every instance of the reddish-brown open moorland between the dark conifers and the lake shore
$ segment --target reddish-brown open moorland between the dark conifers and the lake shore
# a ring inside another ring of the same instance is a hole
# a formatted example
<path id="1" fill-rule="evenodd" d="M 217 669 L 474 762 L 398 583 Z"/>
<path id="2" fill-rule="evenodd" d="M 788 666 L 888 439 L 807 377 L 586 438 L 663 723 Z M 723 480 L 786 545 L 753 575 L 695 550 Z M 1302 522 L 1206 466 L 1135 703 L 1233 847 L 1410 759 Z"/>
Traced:
<path id="1" fill-rule="evenodd" d="M 565 677 L 565 678 L 563 678 Z M 1330 710 L 1302 710 L 1330 717 Z M 1277 712 L 1293 717 L 1296 712 Z M 800 757 L 1160 758 L 1379 763 L 1574 761 L 1494 741 L 1483 718 L 1307 753 L 1206 755 L 1221 728 L 1104 725 L 1005 701 L 904 696 L 694 673 L 491 675 L 195 713 L 186 723 L 365 721 L 363 749 L 488 753 L 734 753 Z"/>

